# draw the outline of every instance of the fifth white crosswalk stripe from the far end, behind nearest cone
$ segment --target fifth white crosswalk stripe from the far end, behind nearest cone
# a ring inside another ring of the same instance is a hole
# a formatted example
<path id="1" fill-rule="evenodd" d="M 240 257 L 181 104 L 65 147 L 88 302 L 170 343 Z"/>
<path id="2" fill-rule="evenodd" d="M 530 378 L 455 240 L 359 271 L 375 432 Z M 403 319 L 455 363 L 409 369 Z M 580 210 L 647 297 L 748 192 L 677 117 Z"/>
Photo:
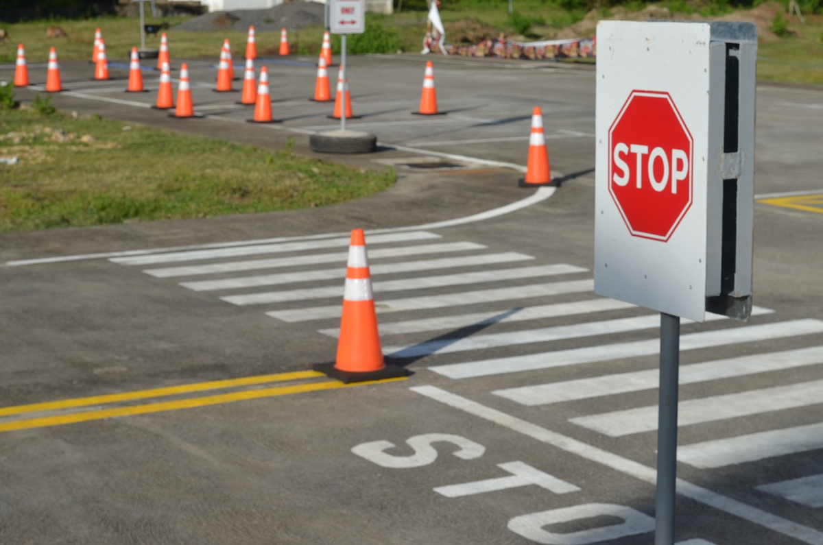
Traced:
<path id="1" fill-rule="evenodd" d="M 460 291 L 442 296 L 407 297 L 404 299 L 376 300 L 374 304 L 378 314 L 401 312 L 404 310 L 443 309 L 459 305 L 478 305 L 499 300 L 533 299 L 543 296 L 593 291 L 592 280 L 573 280 L 570 282 L 549 282 L 529 286 L 501 287 L 491 290 Z M 272 310 L 266 313 L 272 318 L 284 322 L 303 322 L 311 319 L 340 318 L 340 305 L 316 306 L 305 309 Z"/>

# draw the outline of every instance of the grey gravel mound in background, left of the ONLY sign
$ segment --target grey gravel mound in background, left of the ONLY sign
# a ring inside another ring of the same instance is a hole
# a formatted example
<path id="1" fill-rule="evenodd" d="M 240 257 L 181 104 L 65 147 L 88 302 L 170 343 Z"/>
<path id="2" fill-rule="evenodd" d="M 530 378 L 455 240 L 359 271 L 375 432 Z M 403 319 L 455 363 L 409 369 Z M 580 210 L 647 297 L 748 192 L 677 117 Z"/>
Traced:
<path id="1" fill-rule="evenodd" d="M 319 2 L 288 2 L 262 10 L 211 12 L 175 26 L 174 30 L 245 32 L 249 26 L 262 32 L 274 32 L 284 26 L 287 30 L 300 30 L 305 26 L 322 26 L 324 12 L 325 7 Z"/>

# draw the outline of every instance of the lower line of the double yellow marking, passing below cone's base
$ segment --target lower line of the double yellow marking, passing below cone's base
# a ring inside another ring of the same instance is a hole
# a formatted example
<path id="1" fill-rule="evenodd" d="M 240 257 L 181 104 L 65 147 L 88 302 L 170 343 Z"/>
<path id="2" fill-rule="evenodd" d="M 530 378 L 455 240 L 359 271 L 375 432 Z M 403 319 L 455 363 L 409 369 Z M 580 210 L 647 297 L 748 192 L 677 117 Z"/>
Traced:
<path id="1" fill-rule="evenodd" d="M 72 414 L 60 415 L 57 417 L 30 418 L 28 420 L 18 420 L 16 422 L 2 423 L 0 424 L 0 432 L 27 430 L 35 427 L 62 426 L 63 424 L 89 422 L 91 420 L 102 420 L 104 418 L 128 417 L 138 414 L 148 414 L 151 412 L 176 411 L 183 408 L 207 407 L 208 405 L 218 405 L 221 403 L 248 401 L 249 399 L 271 398 L 277 395 L 301 394 L 304 392 L 317 392 L 320 390 L 349 388 L 351 386 L 365 386 L 367 384 L 395 382 L 397 380 L 406 380 L 407 378 L 408 377 L 402 376 L 393 379 L 367 380 L 364 382 L 355 382 L 351 384 L 343 384 L 342 382 L 339 382 L 337 380 L 328 380 L 324 382 L 314 382 L 309 384 L 295 384 L 291 386 L 277 386 L 275 388 L 267 389 L 244 390 L 242 392 L 211 395 L 204 398 L 188 398 L 180 399 L 178 401 L 146 403 L 144 405 L 134 405 L 131 407 L 119 407 L 100 409 L 97 411 L 75 412 Z"/>

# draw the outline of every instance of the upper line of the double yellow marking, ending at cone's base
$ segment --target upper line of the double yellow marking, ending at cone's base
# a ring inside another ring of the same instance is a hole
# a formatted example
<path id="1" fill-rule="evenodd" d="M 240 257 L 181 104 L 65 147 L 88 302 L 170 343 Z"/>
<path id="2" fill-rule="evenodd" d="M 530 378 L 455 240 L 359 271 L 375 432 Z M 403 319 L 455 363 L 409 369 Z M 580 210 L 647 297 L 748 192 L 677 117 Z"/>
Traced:
<path id="1" fill-rule="evenodd" d="M 296 371 L 294 373 L 279 373 L 277 375 L 247 376 L 242 379 L 212 380 L 210 382 L 199 382 L 195 384 L 181 384 L 179 386 L 137 390 L 135 392 L 125 392 L 123 394 L 105 394 L 95 395 L 88 398 L 50 401 L 47 403 L 31 403 L 30 405 L 17 405 L 16 407 L 0 408 L 0 417 L 10 414 L 23 414 L 26 412 L 53 411 L 55 409 L 63 408 L 87 407 L 89 405 L 100 405 L 104 403 L 118 403 L 121 401 L 132 401 L 134 399 L 160 398 L 166 395 L 188 394 L 190 392 L 202 392 L 203 390 L 210 389 L 266 384 L 267 382 L 284 382 L 286 380 L 309 379 L 317 376 L 325 375 L 323 375 L 323 373 L 319 373 L 318 371 Z"/>

